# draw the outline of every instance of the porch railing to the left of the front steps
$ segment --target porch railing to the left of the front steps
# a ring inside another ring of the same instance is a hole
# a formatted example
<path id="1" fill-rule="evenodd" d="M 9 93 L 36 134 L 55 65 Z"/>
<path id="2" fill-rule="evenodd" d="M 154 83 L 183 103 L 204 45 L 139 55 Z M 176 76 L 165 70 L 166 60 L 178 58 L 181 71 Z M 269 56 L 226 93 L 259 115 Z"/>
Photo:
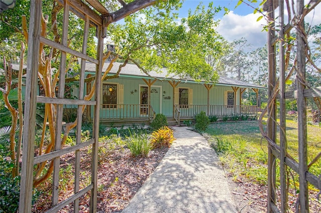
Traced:
<path id="1" fill-rule="evenodd" d="M 101 119 L 146 118 L 152 120 L 155 111 L 150 104 L 101 104 Z"/>

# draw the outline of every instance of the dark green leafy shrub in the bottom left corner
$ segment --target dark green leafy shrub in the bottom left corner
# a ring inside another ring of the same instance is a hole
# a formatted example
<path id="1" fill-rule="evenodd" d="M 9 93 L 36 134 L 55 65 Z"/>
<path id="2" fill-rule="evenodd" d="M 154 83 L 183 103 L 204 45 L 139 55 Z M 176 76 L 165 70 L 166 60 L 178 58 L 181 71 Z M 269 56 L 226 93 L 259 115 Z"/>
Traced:
<path id="1" fill-rule="evenodd" d="M 0 144 L 0 212 L 16 212 L 19 207 L 20 176 L 12 177 L 15 164 L 10 160 L 10 152 Z"/>

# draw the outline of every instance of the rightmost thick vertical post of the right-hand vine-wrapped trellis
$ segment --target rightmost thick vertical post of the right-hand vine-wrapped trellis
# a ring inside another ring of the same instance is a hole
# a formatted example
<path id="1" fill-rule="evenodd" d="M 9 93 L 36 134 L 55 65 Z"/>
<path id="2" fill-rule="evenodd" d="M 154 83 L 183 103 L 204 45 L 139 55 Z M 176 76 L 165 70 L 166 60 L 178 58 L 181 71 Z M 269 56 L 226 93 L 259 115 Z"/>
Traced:
<path id="1" fill-rule="evenodd" d="M 297 14 L 302 14 L 304 2 L 297 0 Z M 303 17 L 297 17 L 303 18 Z M 298 143 L 299 143 L 299 208 L 300 212 L 308 212 L 308 190 L 305 173 L 307 172 L 307 126 L 306 126 L 306 98 L 303 91 L 305 88 L 305 43 L 301 30 L 304 30 L 304 19 L 298 23 L 296 30 L 296 49 L 297 49 L 297 125 L 298 125 Z"/>

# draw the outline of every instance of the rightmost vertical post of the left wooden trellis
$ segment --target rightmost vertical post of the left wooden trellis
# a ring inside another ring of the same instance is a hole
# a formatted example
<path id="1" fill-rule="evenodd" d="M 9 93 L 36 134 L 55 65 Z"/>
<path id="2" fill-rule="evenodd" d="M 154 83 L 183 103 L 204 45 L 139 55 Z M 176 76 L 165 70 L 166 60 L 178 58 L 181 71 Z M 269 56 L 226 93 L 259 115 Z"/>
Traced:
<path id="1" fill-rule="evenodd" d="M 95 100 L 96 105 L 94 107 L 94 130 L 93 136 L 95 142 L 92 144 L 92 166 L 91 166 L 91 183 L 93 184 L 93 189 L 90 193 L 90 212 L 95 213 L 97 211 L 97 170 L 98 170 L 98 139 L 99 139 L 99 120 L 100 120 L 100 90 L 101 90 L 101 73 L 103 66 L 103 50 L 104 50 L 104 38 L 102 37 L 102 26 L 97 26 L 97 59 L 99 64 L 96 65 L 96 93 Z"/>

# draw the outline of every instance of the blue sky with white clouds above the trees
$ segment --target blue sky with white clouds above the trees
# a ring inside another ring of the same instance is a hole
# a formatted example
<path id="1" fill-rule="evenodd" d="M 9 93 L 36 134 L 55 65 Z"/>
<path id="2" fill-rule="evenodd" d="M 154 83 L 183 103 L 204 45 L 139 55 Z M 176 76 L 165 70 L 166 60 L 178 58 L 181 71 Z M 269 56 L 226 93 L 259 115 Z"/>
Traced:
<path id="1" fill-rule="evenodd" d="M 224 15 L 224 12 L 220 12 L 216 17 L 220 20 L 217 31 L 228 41 L 245 37 L 248 43 L 253 45 L 253 49 L 265 45 L 267 32 L 262 31 L 262 29 L 263 25 L 266 24 L 266 20 L 262 18 L 260 21 L 256 21 L 260 14 L 253 14 L 254 8 L 245 3 L 241 3 L 235 8 L 238 0 L 185 0 L 182 8 L 179 10 L 179 16 L 187 17 L 189 9 L 193 12 L 200 2 L 206 6 L 211 1 L 213 1 L 213 6 L 221 6 L 222 8 L 225 6 L 230 9 L 227 15 Z M 307 0 L 304 1 L 306 2 Z M 261 0 L 258 0 L 258 3 L 253 4 L 253 6 L 259 7 L 260 2 Z M 314 13 L 310 12 L 305 20 L 312 24 L 321 23 L 321 5 L 316 7 Z M 313 21 L 311 22 L 311 20 Z"/>

